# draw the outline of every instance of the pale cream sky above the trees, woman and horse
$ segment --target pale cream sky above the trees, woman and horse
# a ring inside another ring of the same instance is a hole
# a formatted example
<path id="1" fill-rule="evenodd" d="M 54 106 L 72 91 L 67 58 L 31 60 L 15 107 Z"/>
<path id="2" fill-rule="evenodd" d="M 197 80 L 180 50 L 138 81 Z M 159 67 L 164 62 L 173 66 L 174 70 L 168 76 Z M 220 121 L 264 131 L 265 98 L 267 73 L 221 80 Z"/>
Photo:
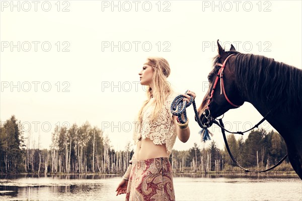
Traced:
<path id="1" fill-rule="evenodd" d="M 301 1 L 14 5 L 1 1 L 0 119 L 15 115 L 25 137 L 26 131 L 36 137 L 40 132 L 43 148 L 49 148 L 55 125 L 81 126 L 86 121 L 103 129 L 115 150 L 132 143 L 132 122 L 145 99 L 138 72 L 148 56 L 168 60 L 169 83 L 178 92 L 194 91 L 197 107 L 207 91 L 217 39 L 226 49 L 232 43 L 242 53 L 301 68 Z M 174 149 L 189 149 L 194 142 L 207 146 L 209 142 L 200 142 L 193 107 L 187 113 L 190 139 L 177 139 Z M 248 103 L 224 115 L 226 128 L 233 131 L 249 129 L 261 119 Z M 273 129 L 267 123 L 262 128 Z M 219 129 L 210 131 L 222 148 Z"/>

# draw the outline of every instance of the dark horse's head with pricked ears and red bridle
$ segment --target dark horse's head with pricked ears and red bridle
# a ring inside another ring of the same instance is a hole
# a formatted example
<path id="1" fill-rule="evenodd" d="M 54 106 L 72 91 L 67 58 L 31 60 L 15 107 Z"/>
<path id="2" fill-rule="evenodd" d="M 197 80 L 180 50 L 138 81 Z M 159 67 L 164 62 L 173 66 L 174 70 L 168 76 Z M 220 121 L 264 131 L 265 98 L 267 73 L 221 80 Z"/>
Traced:
<path id="1" fill-rule="evenodd" d="M 205 127 L 212 125 L 212 119 L 244 103 L 235 85 L 234 58 L 239 52 L 236 52 L 233 45 L 230 51 L 224 51 L 218 41 L 218 55 L 208 74 L 209 88 L 198 108 L 198 116 Z"/>

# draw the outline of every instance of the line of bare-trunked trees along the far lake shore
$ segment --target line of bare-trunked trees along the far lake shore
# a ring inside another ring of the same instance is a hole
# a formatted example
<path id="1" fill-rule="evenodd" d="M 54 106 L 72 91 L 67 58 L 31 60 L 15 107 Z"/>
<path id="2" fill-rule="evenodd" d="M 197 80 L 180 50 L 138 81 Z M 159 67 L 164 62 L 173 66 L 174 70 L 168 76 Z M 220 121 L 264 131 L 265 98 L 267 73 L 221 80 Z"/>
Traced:
<path id="1" fill-rule="evenodd" d="M 130 142 L 115 151 L 110 139 L 89 122 L 70 128 L 56 126 L 49 149 L 41 149 L 33 134 L 24 136 L 15 116 L 0 127 L 1 173 L 123 173 L 133 155 Z M 246 140 L 228 136 L 230 149 L 237 161 L 248 168 L 265 169 L 286 154 L 283 138 L 276 132 L 252 130 Z M 173 150 L 170 162 L 175 173 L 238 171 L 228 152 L 218 149 L 214 141 L 207 148 L 197 143 L 189 150 Z M 288 159 L 280 171 L 292 171 Z"/>

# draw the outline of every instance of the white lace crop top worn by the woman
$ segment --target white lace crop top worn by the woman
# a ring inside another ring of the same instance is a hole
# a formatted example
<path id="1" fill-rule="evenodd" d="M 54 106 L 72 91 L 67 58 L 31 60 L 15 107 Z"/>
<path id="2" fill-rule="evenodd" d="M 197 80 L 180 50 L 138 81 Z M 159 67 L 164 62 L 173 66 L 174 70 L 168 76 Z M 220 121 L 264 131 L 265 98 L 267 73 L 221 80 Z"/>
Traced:
<path id="1" fill-rule="evenodd" d="M 153 104 L 154 98 L 150 99 L 150 103 L 143 110 L 142 124 L 135 124 L 136 126 L 133 131 L 134 145 L 137 144 L 140 137 L 141 139 L 150 138 L 155 145 L 166 143 L 167 154 L 168 157 L 170 156 L 177 136 L 173 115 L 171 114 L 171 103 L 179 94 L 173 92 L 166 98 L 162 111 L 153 122 L 150 122 L 149 119 L 155 105 Z"/>

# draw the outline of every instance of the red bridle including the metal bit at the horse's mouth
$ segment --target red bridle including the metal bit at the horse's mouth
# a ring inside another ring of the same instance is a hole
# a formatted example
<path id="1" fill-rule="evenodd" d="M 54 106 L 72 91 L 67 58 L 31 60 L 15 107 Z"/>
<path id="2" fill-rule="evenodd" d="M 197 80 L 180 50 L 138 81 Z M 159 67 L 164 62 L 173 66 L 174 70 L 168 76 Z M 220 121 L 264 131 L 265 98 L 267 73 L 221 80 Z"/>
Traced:
<path id="1" fill-rule="evenodd" d="M 214 81 L 214 84 L 213 84 L 213 88 L 211 90 L 211 93 L 210 93 L 210 97 L 208 98 L 208 102 L 207 102 L 207 107 L 206 109 L 204 110 L 203 112 L 203 115 L 204 117 L 208 120 L 205 124 L 203 124 L 204 127 L 208 127 L 209 126 L 209 123 L 211 122 L 211 120 L 213 119 L 211 116 L 210 116 L 210 110 L 209 110 L 209 105 L 210 103 L 212 102 L 212 99 L 213 99 L 213 95 L 214 95 L 214 92 L 215 92 L 215 89 L 216 89 L 216 86 L 217 86 L 217 83 L 218 83 L 218 79 L 220 79 L 220 94 L 224 94 L 224 97 L 226 99 L 226 101 L 228 101 L 228 103 L 233 106 L 234 108 L 239 108 L 240 106 L 237 106 L 235 104 L 233 104 L 231 102 L 231 100 L 228 98 L 228 96 L 226 95 L 225 93 L 225 90 L 224 90 L 224 83 L 223 83 L 223 70 L 224 70 L 224 67 L 225 67 L 225 64 L 226 62 L 229 60 L 229 58 L 231 58 L 232 56 L 234 56 L 235 54 L 230 54 L 228 57 L 226 57 L 226 59 L 223 61 L 223 63 L 217 63 L 216 65 L 220 66 L 220 69 L 218 70 L 217 72 L 217 76 L 216 76 L 216 79 Z"/>

